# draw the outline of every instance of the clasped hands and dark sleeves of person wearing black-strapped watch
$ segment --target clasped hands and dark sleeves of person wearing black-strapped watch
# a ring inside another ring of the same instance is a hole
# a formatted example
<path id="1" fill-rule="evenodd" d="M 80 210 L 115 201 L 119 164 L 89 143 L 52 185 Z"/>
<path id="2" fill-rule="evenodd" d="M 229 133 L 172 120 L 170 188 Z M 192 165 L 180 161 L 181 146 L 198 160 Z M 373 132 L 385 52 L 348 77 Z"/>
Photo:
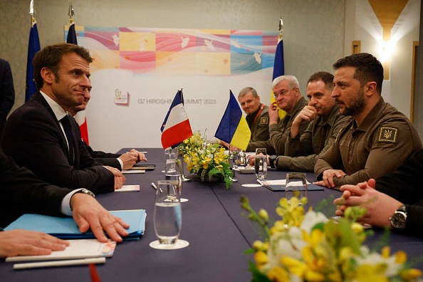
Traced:
<path id="1" fill-rule="evenodd" d="M 366 209 L 360 222 L 390 227 L 407 234 L 423 236 L 423 150 L 411 155 L 397 171 L 355 185 L 343 185 L 343 197 L 335 199 L 336 215 L 343 216 L 350 206 Z"/>

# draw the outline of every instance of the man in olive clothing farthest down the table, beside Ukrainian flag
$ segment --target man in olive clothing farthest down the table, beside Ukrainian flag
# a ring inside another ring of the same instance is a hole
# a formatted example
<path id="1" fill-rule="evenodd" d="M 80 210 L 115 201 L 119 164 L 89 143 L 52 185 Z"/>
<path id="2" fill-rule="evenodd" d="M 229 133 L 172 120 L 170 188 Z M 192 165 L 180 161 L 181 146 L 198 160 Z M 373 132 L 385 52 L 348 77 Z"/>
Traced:
<path id="1" fill-rule="evenodd" d="M 268 140 L 268 106 L 260 103 L 257 91 L 252 87 L 241 89 L 238 101 L 246 113 L 245 119 L 251 131 L 250 142 Z"/>

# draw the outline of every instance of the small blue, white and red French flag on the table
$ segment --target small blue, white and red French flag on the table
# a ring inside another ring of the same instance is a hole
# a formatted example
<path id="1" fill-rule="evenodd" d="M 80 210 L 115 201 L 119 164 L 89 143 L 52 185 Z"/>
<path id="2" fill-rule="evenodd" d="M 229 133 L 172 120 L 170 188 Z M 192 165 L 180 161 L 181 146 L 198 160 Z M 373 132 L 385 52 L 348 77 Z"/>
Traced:
<path id="1" fill-rule="evenodd" d="M 174 96 L 160 130 L 163 149 L 177 147 L 182 141 L 192 136 L 191 125 L 184 108 L 182 90 L 178 90 L 177 95 Z"/>

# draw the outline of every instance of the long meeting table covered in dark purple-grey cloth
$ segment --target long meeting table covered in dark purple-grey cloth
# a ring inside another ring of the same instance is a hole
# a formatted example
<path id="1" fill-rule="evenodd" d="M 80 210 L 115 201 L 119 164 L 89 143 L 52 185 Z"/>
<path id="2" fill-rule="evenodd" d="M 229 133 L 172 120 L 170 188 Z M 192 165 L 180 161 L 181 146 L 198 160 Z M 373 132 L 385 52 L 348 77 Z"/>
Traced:
<path id="1" fill-rule="evenodd" d="M 125 174 L 125 184 L 140 184 L 140 192 L 110 193 L 98 195 L 98 201 L 108 210 L 146 209 L 145 234 L 140 240 L 124 241 L 117 245 L 113 258 L 97 270 L 102 281 L 250 281 L 248 261 L 252 255 L 243 252 L 260 239 L 258 226 L 246 218 L 241 209 L 239 197 L 249 197 L 251 207 L 264 208 L 276 219 L 276 203 L 284 196 L 283 192 L 272 192 L 265 187 L 242 187 L 241 184 L 256 183 L 255 174 L 236 173 L 237 183 L 225 189 L 221 182 L 201 182 L 192 177 L 192 182 L 184 182 L 182 197 L 189 199 L 182 203 L 182 231 L 180 239 L 189 241 L 184 249 L 161 251 L 150 248 L 155 241 L 153 209 L 155 189 L 151 183 L 164 179 L 164 153 L 162 149 L 139 149 L 147 151 L 147 163 L 157 164 L 153 171 L 145 174 Z M 120 152 L 127 152 L 122 149 Z M 187 174 L 187 173 L 185 173 Z M 268 179 L 284 179 L 286 172 L 269 171 Z M 308 181 L 315 176 L 307 174 Z M 308 192 L 310 205 L 317 206 L 322 199 L 339 197 L 334 189 Z M 330 204 L 330 207 L 333 205 Z M 328 211 L 333 214 L 335 210 Z M 382 233 L 367 239 L 374 245 Z M 421 256 L 423 240 L 392 234 L 392 251 L 402 249 L 409 257 Z M 423 269 L 423 264 L 419 263 Z M 12 263 L 0 261 L 0 273 L 4 281 L 90 281 L 88 266 L 63 268 L 39 268 L 14 271 Z"/>

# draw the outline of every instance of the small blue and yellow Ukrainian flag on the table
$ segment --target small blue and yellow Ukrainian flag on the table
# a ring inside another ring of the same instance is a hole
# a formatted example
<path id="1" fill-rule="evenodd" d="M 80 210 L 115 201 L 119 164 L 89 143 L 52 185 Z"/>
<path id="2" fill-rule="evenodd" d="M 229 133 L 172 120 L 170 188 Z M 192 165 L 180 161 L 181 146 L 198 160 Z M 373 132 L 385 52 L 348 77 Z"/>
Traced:
<path id="1" fill-rule="evenodd" d="M 246 150 L 250 142 L 251 131 L 234 94 L 232 91 L 230 93 L 229 103 L 214 137 L 241 150 Z"/>

